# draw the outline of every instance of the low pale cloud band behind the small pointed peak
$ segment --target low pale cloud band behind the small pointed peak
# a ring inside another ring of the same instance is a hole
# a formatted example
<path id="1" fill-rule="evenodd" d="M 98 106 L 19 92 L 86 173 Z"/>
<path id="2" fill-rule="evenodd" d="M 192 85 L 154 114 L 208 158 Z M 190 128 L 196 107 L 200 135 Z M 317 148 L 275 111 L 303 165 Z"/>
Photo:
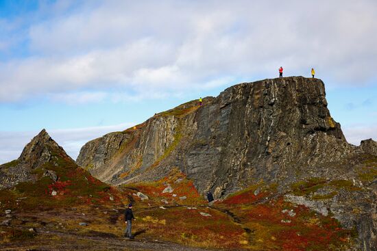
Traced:
<path id="1" fill-rule="evenodd" d="M 104 127 L 86 127 L 77 129 L 53 129 L 48 130 L 47 133 L 55 140 L 68 155 L 76 159 L 80 149 L 84 144 L 97 137 L 101 137 L 106 133 L 113 131 L 123 131 L 130 128 L 134 123 L 115 124 Z M 5 132 L 0 131 L 0 163 L 5 163 L 17 159 L 32 138 L 37 135 L 39 131 L 25 131 L 25 132 Z"/>

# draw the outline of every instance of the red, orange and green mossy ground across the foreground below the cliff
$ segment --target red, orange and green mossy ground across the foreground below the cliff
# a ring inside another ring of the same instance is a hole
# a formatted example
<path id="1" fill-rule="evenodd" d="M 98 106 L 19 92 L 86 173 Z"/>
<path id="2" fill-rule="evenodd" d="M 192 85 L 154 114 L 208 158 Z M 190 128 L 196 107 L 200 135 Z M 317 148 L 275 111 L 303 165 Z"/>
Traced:
<path id="1" fill-rule="evenodd" d="M 94 179 L 66 159 L 55 160 L 58 166 L 47 164 L 42 170 L 35 170 L 39 176 L 36 183 L 20 183 L 14 190 L 0 191 L 1 213 L 11 209 L 13 215 L 11 226 L 0 229 L 0 245 L 32 246 L 38 241 L 51 241 L 51 245 L 56 241 L 58 245 L 62 241 L 62 234 L 42 240 L 38 230 L 64 233 L 75 239 L 75 245 L 80 243 L 86 248 L 90 247 L 90 238 L 117 241 L 123 235 L 123 210 L 129 202 L 134 203 L 136 216 L 133 232 L 136 239 L 143 241 L 158 239 L 226 250 L 345 250 L 355 237 L 354 232 L 341 228 L 335 219 L 276 197 L 273 184 L 253 185 L 208 207 L 193 182 L 178 169 L 160 181 L 117 189 Z M 59 181 L 53 183 L 42 176 L 44 170 L 56 172 Z M 162 193 L 168 185 L 173 192 Z M 310 179 L 293 184 L 292 190 L 313 194 L 325 186 L 354 189 L 350 181 Z M 58 195 L 51 196 L 51 190 L 58 191 Z M 142 201 L 136 191 L 147 194 L 149 200 Z M 186 199 L 180 200 L 182 196 Z M 6 220 L 3 216 L 0 220 Z M 88 226 L 80 226 L 80 222 Z M 37 233 L 28 232 L 28 228 L 35 228 Z"/>

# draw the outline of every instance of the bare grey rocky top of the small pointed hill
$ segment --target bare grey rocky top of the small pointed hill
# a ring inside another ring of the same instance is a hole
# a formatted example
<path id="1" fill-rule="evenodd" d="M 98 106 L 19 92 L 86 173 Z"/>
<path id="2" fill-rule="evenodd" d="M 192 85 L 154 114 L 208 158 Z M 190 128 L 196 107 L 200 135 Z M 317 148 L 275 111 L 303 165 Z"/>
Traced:
<path id="1" fill-rule="evenodd" d="M 34 181 L 36 175 L 33 174 L 33 170 L 50 161 L 54 162 L 57 156 L 74 163 L 63 148 L 58 146 L 43 129 L 25 146 L 19 159 L 0 166 L 0 189 L 9 188 L 24 181 Z M 56 162 L 54 164 L 58 165 Z M 49 176 L 53 175 L 50 171 Z"/>

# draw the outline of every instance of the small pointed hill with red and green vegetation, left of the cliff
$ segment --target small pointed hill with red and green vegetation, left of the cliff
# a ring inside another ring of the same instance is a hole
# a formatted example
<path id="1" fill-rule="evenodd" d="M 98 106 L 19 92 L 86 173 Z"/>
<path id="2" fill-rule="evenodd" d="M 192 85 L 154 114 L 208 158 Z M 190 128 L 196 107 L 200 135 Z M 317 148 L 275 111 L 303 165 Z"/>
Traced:
<path id="1" fill-rule="evenodd" d="M 8 201 L 8 208 L 64 207 L 110 197 L 119 202 L 111 187 L 77 166 L 45 130 L 25 146 L 19 159 L 0 166 L 0 202 Z"/>

